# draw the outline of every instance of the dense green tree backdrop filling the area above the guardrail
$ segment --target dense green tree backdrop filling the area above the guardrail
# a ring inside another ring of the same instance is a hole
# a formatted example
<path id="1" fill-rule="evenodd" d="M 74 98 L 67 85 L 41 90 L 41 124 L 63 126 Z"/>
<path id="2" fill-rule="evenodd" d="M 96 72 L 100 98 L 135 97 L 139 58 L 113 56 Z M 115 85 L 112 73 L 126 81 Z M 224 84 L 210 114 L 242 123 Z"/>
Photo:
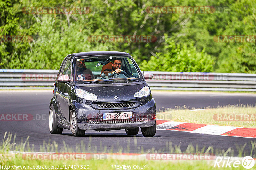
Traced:
<path id="1" fill-rule="evenodd" d="M 154 6 L 212 6 L 215 11 L 148 12 Z M 26 7 L 89 7 L 89 12 L 33 13 Z M 0 0 L 0 9 L 0 68 L 59 69 L 67 54 L 114 50 L 130 53 L 142 70 L 256 73 L 255 41 L 214 40 L 256 35 L 255 0 Z M 8 35 L 28 41 L 3 41 Z M 92 42 L 88 37 L 93 35 L 152 35 L 157 40 Z"/>

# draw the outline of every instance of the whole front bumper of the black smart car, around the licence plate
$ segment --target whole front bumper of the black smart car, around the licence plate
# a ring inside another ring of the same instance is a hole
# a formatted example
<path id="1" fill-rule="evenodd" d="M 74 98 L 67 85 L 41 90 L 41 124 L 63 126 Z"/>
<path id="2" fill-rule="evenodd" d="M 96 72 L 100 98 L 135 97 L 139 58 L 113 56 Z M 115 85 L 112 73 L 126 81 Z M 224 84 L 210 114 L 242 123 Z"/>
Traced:
<path id="1" fill-rule="evenodd" d="M 83 101 L 83 103 L 74 103 L 74 111 L 77 117 L 77 126 L 83 130 L 116 130 L 116 129 L 132 129 L 136 127 L 151 127 L 156 121 L 156 104 L 151 96 L 148 100 L 140 102 L 140 105 L 135 105 L 133 108 L 109 108 L 98 109 L 92 103 L 95 101 Z M 92 104 L 92 106 L 91 106 Z M 106 123 L 103 121 L 104 113 L 120 113 L 132 112 L 132 119 L 129 122 L 112 122 Z M 97 121 L 92 123 L 90 120 Z M 99 121 L 98 121 L 99 120 Z M 140 121 L 138 121 L 140 120 Z"/>

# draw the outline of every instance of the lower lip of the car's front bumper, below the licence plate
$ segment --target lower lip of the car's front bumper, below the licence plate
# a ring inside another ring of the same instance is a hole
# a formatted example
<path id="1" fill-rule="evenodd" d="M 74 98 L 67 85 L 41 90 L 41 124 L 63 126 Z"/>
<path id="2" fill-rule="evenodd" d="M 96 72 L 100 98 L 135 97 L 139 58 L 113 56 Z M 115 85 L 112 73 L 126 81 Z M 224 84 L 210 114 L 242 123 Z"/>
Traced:
<path id="1" fill-rule="evenodd" d="M 151 127 L 155 124 L 155 119 L 145 120 L 144 122 L 131 122 L 119 124 L 90 124 L 90 123 L 77 123 L 79 129 L 83 130 L 116 130 L 116 129 L 132 129 L 136 127 Z"/>

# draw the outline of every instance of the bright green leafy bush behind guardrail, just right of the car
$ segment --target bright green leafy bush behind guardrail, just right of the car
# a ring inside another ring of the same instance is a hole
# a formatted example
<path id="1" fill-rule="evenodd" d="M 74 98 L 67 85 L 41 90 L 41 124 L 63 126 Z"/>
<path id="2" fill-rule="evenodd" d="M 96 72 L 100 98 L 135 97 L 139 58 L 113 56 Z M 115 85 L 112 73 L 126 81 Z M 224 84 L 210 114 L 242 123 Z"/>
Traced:
<path id="1" fill-rule="evenodd" d="M 165 35 L 167 36 L 167 35 Z M 172 38 L 165 38 L 164 52 L 156 53 L 147 62 L 140 64 L 145 71 L 211 72 L 214 60 L 204 49 L 197 52 L 192 43 L 176 44 Z"/>

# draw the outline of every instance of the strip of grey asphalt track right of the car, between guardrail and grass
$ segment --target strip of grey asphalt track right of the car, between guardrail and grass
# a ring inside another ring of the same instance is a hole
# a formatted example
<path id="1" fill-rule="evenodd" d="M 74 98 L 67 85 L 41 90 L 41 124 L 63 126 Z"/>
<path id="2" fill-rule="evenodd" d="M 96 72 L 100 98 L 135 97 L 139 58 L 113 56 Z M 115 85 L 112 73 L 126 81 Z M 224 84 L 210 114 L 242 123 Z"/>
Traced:
<path id="1" fill-rule="evenodd" d="M 190 109 L 217 107 L 226 105 L 249 104 L 255 106 L 256 94 L 250 93 L 215 93 L 215 92 L 158 92 L 153 91 L 157 109 L 184 106 Z"/>

